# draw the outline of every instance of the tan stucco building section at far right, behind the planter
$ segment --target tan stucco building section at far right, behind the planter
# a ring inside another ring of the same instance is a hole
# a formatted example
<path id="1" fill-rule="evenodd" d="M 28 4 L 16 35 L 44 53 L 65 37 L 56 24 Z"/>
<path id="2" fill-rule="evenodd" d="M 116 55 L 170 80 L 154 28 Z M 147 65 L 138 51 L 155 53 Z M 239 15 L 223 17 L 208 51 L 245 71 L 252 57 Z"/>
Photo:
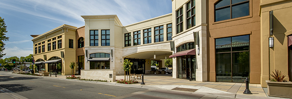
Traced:
<path id="1" fill-rule="evenodd" d="M 275 69 L 282 71 L 287 75 L 285 79 L 292 81 L 291 10 L 292 0 L 260 0 L 260 82 L 263 87 L 267 86 L 265 81 L 272 78 L 270 74 Z M 270 29 L 273 29 L 272 33 Z M 274 38 L 272 47 L 269 46 L 269 38 Z"/>

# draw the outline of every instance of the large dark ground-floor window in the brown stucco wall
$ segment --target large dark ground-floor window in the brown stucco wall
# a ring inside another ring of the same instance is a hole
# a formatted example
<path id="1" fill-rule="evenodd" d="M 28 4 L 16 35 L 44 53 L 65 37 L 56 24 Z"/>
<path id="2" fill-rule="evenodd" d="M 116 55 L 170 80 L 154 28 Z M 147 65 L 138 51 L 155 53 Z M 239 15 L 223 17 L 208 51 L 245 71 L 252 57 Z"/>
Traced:
<path id="1" fill-rule="evenodd" d="M 249 77 L 249 35 L 215 39 L 216 81 L 244 82 Z"/>

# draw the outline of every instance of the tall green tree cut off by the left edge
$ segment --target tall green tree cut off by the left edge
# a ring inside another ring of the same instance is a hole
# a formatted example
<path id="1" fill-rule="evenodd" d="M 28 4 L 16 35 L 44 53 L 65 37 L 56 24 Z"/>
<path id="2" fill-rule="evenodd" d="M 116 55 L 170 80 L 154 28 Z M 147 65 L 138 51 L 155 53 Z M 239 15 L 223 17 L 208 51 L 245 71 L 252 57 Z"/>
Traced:
<path id="1" fill-rule="evenodd" d="M 5 44 L 3 43 L 3 41 L 9 40 L 9 37 L 5 36 L 6 35 L 5 33 L 7 33 L 6 28 L 7 26 L 4 22 L 4 18 L 0 16 L 0 57 L 6 55 L 6 53 L 3 53 L 3 50 L 5 49 L 4 48 Z"/>

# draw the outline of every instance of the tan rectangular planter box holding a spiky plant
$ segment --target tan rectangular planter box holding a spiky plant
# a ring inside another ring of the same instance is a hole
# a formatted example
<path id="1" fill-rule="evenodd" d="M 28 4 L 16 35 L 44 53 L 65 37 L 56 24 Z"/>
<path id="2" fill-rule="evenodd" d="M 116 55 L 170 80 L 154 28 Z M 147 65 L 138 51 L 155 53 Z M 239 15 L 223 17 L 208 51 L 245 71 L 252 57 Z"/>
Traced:
<path id="1" fill-rule="evenodd" d="M 292 98 L 292 82 L 270 82 L 267 80 L 266 83 L 269 96 Z"/>

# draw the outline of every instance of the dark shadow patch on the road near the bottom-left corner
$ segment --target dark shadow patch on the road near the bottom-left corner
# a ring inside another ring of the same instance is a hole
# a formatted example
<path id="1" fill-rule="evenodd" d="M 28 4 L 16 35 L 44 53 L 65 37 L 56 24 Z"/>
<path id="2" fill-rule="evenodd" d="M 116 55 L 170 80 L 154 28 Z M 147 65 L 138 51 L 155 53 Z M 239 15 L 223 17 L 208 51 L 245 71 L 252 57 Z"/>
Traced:
<path id="1" fill-rule="evenodd" d="M 31 87 L 24 86 L 24 84 L 0 84 L 0 86 L 15 93 L 32 90 Z"/>

